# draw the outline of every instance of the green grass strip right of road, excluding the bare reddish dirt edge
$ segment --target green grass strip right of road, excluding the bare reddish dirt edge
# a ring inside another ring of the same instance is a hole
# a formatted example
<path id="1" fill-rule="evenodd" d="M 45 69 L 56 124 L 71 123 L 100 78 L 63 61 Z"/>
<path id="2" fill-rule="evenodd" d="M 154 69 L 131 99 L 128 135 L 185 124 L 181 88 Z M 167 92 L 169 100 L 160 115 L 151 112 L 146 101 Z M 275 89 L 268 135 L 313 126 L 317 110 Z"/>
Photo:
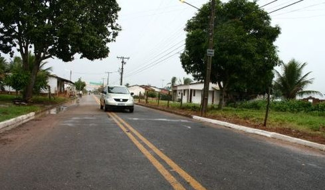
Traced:
<path id="1" fill-rule="evenodd" d="M 145 102 L 145 101 L 141 101 Z M 151 105 L 157 105 L 157 101 L 148 101 Z M 198 111 L 199 105 L 183 103 L 180 108 L 179 102 L 169 102 L 170 108 L 190 111 Z M 159 101 L 159 106 L 167 106 L 167 101 Z M 265 110 L 225 107 L 223 110 L 209 109 L 207 115 L 229 119 L 240 119 L 249 121 L 255 125 L 262 125 L 265 117 Z M 325 137 L 325 113 L 324 112 L 276 112 L 269 111 L 267 120 L 268 127 L 284 127 L 296 129 L 308 133 L 317 133 Z"/>

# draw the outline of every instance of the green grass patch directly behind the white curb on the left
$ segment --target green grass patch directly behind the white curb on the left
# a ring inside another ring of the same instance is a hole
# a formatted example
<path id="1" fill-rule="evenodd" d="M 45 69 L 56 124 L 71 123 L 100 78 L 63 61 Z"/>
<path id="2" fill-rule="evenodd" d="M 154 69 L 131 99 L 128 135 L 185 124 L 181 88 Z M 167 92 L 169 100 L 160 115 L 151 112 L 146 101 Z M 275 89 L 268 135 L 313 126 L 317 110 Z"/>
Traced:
<path id="1" fill-rule="evenodd" d="M 39 111 L 39 106 L 15 106 L 0 107 L 0 122 L 18 117 L 31 112 Z"/>

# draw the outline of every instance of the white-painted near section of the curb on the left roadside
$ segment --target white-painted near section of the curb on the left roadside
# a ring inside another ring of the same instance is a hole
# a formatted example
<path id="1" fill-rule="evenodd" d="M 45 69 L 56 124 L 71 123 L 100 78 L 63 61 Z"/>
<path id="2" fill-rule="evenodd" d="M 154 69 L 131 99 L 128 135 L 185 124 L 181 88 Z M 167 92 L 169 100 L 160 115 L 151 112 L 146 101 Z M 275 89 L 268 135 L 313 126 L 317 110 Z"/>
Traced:
<path id="1" fill-rule="evenodd" d="M 20 115 L 18 117 L 0 122 L 0 133 L 12 129 L 14 127 L 17 127 L 23 123 L 26 123 L 27 121 L 35 118 L 35 112 L 28 113 L 26 115 Z"/>

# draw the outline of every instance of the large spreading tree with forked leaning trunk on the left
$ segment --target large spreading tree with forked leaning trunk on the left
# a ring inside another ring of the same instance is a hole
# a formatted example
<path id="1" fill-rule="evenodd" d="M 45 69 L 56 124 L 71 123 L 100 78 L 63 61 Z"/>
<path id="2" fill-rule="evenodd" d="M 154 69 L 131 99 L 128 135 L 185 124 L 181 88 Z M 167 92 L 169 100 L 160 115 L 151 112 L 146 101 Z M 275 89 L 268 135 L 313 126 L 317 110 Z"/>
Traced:
<path id="1" fill-rule="evenodd" d="M 13 56 L 17 50 L 28 67 L 28 52 L 35 63 L 24 99 L 29 101 L 41 61 L 57 57 L 72 61 L 79 53 L 89 60 L 107 57 L 107 44 L 120 30 L 120 7 L 115 0 L 0 0 L 0 51 Z"/>

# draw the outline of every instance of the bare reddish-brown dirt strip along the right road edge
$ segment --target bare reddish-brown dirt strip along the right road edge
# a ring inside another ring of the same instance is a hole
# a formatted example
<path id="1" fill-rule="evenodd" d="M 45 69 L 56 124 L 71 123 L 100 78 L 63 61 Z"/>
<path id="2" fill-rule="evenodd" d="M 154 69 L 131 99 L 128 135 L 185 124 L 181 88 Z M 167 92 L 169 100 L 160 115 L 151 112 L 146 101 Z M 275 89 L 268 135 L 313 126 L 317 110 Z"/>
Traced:
<path id="1" fill-rule="evenodd" d="M 199 116 L 200 115 L 200 112 L 195 112 L 195 111 L 190 111 L 190 110 L 168 108 L 166 106 L 158 107 L 155 105 L 146 105 L 145 103 L 137 103 L 137 104 L 155 108 L 155 109 L 162 110 L 162 111 L 166 111 L 166 112 L 183 115 L 183 116 L 190 116 L 190 115 L 198 115 Z M 206 117 L 210 118 L 210 119 L 215 119 L 215 120 L 219 120 L 219 121 L 236 124 L 236 125 L 242 125 L 242 126 L 246 126 L 246 127 L 255 128 L 255 129 L 261 129 L 261 130 L 265 130 L 265 131 L 269 131 L 269 132 L 275 132 L 275 133 L 279 133 L 282 135 L 287 135 L 290 137 L 295 137 L 295 138 L 300 138 L 300 139 L 304 139 L 304 140 L 308 140 L 308 141 L 312 141 L 312 142 L 316 142 L 316 143 L 320 143 L 320 144 L 325 144 L 325 137 L 320 134 L 319 135 L 312 134 L 312 133 L 300 131 L 297 129 L 291 129 L 288 127 L 264 127 L 260 123 L 254 123 L 252 121 L 240 119 L 240 118 L 227 118 L 227 117 L 223 117 L 223 116 L 219 116 L 219 115 L 212 115 L 212 114 L 208 114 Z M 321 127 L 320 130 L 325 130 L 325 127 Z"/>

